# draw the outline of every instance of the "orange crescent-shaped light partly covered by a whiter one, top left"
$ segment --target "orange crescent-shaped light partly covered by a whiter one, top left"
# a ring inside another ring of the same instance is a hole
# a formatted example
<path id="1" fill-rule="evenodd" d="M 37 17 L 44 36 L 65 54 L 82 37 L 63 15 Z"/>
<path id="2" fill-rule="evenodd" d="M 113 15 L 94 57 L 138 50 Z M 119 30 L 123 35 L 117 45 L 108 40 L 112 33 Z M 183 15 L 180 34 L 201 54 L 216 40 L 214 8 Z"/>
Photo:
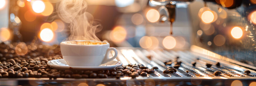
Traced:
<path id="1" fill-rule="evenodd" d="M 41 13 L 42 15 L 44 16 L 49 16 L 52 14 L 52 11 L 53 11 L 53 6 L 51 3 L 49 2 L 44 2 L 45 4 L 45 10 Z"/>

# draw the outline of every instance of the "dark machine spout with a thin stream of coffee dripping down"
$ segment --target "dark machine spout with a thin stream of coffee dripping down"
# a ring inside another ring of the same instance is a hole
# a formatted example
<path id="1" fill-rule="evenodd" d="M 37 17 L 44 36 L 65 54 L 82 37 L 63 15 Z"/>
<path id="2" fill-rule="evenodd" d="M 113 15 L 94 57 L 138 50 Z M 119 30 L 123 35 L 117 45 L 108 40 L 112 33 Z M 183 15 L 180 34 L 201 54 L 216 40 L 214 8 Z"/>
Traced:
<path id="1" fill-rule="evenodd" d="M 170 35 L 172 35 L 172 23 L 175 21 L 175 15 L 176 15 L 176 5 L 173 5 L 173 4 L 167 4 L 165 5 L 165 7 L 167 8 L 168 10 L 168 13 L 169 13 L 169 22 L 171 22 L 171 25 L 170 25 Z"/>

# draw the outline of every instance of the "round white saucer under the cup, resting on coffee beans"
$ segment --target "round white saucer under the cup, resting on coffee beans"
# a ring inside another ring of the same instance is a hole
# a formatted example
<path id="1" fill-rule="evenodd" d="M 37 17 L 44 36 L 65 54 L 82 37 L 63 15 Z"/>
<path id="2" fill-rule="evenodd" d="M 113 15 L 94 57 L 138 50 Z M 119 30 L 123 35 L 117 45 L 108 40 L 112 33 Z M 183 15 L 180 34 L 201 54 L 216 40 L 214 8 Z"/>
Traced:
<path id="1" fill-rule="evenodd" d="M 121 66 L 122 63 L 120 61 L 110 61 L 100 66 L 68 66 L 66 61 L 64 61 L 64 59 L 56 59 L 56 60 L 48 61 L 47 65 L 58 70 L 74 69 L 74 70 L 96 71 L 96 70 L 111 70 L 115 67 Z"/>

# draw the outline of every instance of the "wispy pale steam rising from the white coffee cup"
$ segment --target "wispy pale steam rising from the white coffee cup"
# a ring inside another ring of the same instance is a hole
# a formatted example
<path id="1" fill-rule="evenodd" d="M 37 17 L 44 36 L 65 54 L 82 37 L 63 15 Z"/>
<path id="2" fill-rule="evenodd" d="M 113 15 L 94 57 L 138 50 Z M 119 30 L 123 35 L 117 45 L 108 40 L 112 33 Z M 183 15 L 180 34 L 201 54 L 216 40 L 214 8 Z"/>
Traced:
<path id="1" fill-rule="evenodd" d="M 86 12 L 85 0 L 59 0 L 56 4 L 58 17 L 69 24 L 70 34 L 68 40 L 95 40 L 96 33 L 100 31 L 100 25 L 95 25 L 93 15 Z"/>

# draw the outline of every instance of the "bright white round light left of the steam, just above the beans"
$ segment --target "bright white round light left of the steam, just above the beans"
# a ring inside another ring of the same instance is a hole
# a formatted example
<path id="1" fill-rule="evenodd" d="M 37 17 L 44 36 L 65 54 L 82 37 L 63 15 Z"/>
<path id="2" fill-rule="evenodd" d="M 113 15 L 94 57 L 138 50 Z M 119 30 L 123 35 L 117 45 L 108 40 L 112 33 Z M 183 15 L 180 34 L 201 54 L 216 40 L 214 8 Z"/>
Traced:
<path id="1" fill-rule="evenodd" d="M 46 29 L 43 29 L 41 32 L 40 32 L 40 38 L 45 41 L 45 42 L 49 42 L 52 40 L 53 38 L 53 32 L 51 29 L 49 28 L 46 28 Z"/>

